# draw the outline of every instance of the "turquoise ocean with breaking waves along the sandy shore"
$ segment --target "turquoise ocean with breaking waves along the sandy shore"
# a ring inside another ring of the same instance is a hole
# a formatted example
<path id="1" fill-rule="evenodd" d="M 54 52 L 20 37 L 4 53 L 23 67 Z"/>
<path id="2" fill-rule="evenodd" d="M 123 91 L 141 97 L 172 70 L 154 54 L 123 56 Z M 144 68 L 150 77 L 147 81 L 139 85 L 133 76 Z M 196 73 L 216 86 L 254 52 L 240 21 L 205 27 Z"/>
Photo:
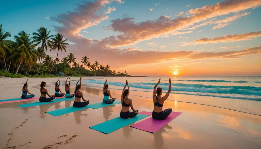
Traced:
<path id="1" fill-rule="evenodd" d="M 169 88 L 169 77 L 107 77 L 109 89 L 122 90 L 126 79 L 134 96 L 151 98 L 153 87 L 163 95 Z M 91 88 L 102 89 L 105 79 L 82 80 Z M 261 77 L 171 77 L 171 94 L 168 100 L 204 104 L 261 116 Z M 191 95 L 177 96 L 177 95 Z M 204 98 L 200 98 L 204 96 Z M 184 98 L 185 97 L 185 98 Z"/>

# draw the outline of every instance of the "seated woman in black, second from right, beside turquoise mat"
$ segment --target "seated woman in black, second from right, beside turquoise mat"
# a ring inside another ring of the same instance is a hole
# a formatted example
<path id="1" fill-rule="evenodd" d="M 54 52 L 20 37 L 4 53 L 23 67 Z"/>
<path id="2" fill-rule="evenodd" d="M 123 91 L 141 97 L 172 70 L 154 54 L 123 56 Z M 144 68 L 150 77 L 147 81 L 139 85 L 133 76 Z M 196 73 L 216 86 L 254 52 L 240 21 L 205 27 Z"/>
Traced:
<path id="1" fill-rule="evenodd" d="M 128 89 L 126 89 L 126 86 L 128 85 Z M 126 90 L 125 90 L 126 89 Z M 124 86 L 121 94 L 121 114 L 120 117 L 123 119 L 131 119 L 132 117 L 136 116 L 139 112 L 139 110 L 135 110 L 132 106 L 132 100 L 128 98 L 130 93 L 129 84 L 126 80 L 126 85 Z M 133 112 L 129 111 L 129 107 L 131 106 L 131 109 Z"/>

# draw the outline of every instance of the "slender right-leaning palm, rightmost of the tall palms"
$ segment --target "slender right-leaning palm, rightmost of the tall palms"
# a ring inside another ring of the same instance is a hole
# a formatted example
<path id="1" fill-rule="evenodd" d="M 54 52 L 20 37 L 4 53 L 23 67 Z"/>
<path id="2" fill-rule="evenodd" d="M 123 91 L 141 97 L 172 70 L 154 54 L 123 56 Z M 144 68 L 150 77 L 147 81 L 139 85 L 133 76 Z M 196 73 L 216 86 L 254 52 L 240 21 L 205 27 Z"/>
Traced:
<path id="1" fill-rule="evenodd" d="M 66 52 L 66 45 L 69 45 L 68 43 L 66 43 L 67 39 L 64 39 L 63 40 L 63 35 L 62 34 L 56 34 L 55 35 L 55 38 L 52 38 L 52 48 L 50 51 L 52 50 L 57 50 L 57 55 L 56 55 L 56 58 L 58 57 L 58 52 L 61 51 L 63 52 L 63 50 Z M 56 63 L 56 59 L 55 59 L 55 62 L 54 62 L 54 65 Z M 52 65 L 52 69 L 54 68 L 54 65 Z M 48 75 L 52 72 L 52 69 L 51 71 L 48 73 Z"/>

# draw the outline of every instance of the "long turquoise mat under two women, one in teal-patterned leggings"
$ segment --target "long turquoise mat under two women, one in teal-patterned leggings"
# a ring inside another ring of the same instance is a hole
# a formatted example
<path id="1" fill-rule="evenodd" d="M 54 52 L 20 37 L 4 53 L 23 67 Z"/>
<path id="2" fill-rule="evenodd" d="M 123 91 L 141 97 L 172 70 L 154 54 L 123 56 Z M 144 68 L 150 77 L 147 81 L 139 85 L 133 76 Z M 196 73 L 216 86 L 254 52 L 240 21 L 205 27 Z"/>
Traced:
<path id="1" fill-rule="evenodd" d="M 121 101 L 115 101 L 111 104 L 99 102 L 99 103 L 89 104 L 89 105 L 87 105 L 85 107 L 81 107 L 81 108 L 77 108 L 77 107 L 72 106 L 72 107 L 58 109 L 58 110 L 54 110 L 54 111 L 50 111 L 50 112 L 46 112 L 46 113 L 54 115 L 54 116 L 60 116 L 60 115 L 63 115 L 63 114 L 71 113 L 71 112 L 74 112 L 74 111 L 79 111 L 79 110 L 86 109 L 86 108 L 98 109 L 98 108 L 102 108 L 102 107 L 106 107 L 106 106 L 114 105 L 114 104 L 119 104 L 119 103 L 121 103 Z"/>

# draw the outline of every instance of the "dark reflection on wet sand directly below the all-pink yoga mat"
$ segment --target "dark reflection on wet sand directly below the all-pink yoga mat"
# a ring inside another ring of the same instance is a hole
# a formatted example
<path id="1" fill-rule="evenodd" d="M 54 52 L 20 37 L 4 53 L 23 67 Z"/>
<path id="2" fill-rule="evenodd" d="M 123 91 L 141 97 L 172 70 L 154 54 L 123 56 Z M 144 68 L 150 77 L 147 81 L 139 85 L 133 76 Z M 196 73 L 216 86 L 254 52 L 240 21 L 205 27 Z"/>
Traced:
<path id="1" fill-rule="evenodd" d="M 168 131 L 166 131 L 166 129 L 172 129 L 172 127 L 167 124 L 163 128 L 159 129 L 156 133 L 153 134 L 154 135 L 153 143 L 154 143 L 155 149 L 165 148 L 165 146 L 164 146 L 165 135 L 163 133 L 168 133 Z"/>

